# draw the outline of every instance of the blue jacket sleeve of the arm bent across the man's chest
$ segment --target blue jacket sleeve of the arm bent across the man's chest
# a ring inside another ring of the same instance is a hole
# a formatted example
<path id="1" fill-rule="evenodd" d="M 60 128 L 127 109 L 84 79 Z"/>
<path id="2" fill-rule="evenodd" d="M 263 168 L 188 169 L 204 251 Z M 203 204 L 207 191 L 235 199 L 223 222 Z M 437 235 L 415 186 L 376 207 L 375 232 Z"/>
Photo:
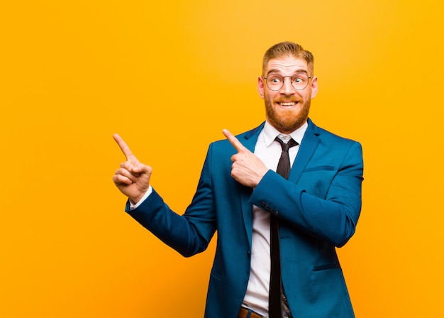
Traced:
<path id="1" fill-rule="evenodd" d="M 269 170 L 249 202 L 340 247 L 355 233 L 361 210 L 362 172 L 362 147 L 353 142 L 338 168 L 324 174 L 311 173 L 307 182 L 294 183 Z M 313 189 L 324 187 L 325 193 L 316 193 L 306 184 L 313 185 Z"/>

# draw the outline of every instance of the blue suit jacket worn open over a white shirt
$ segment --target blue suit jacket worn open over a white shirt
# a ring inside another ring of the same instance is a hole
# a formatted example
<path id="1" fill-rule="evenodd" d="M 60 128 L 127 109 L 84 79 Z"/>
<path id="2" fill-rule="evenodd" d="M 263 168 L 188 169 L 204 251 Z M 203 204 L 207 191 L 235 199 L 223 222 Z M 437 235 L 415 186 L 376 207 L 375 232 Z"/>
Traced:
<path id="1" fill-rule="evenodd" d="M 264 124 L 238 139 L 254 151 Z M 295 317 L 354 317 L 335 246 L 354 234 L 361 209 L 360 143 L 309 120 L 289 180 L 269 170 L 255 190 L 231 177 L 235 149 L 211 143 L 192 203 L 175 214 L 153 191 L 126 211 L 183 256 L 204 251 L 217 235 L 205 317 L 235 318 L 248 284 L 252 204 L 279 216 L 282 283 Z"/>

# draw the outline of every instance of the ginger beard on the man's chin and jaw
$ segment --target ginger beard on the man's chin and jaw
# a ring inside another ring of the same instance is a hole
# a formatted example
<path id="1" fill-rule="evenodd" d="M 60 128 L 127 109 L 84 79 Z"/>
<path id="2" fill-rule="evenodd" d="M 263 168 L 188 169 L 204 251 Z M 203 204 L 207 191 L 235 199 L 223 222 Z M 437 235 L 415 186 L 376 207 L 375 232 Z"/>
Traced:
<path id="1" fill-rule="evenodd" d="M 296 109 L 277 109 L 273 106 L 273 101 L 265 96 L 265 114 L 267 119 L 281 133 L 292 133 L 309 118 L 311 98 L 309 97 L 305 102 L 299 101 L 297 106 L 298 108 Z"/>

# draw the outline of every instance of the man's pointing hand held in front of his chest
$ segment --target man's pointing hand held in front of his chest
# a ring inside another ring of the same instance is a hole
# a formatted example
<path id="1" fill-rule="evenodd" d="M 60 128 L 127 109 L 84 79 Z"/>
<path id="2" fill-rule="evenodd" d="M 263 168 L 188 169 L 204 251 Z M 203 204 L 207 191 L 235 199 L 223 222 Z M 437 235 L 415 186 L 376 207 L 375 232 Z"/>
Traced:
<path id="1" fill-rule="evenodd" d="M 262 177 L 267 173 L 268 168 L 257 158 L 257 155 L 245 148 L 238 138 L 235 138 L 230 131 L 223 129 L 231 145 L 238 151 L 231 157 L 231 177 L 247 187 L 256 187 Z"/>

